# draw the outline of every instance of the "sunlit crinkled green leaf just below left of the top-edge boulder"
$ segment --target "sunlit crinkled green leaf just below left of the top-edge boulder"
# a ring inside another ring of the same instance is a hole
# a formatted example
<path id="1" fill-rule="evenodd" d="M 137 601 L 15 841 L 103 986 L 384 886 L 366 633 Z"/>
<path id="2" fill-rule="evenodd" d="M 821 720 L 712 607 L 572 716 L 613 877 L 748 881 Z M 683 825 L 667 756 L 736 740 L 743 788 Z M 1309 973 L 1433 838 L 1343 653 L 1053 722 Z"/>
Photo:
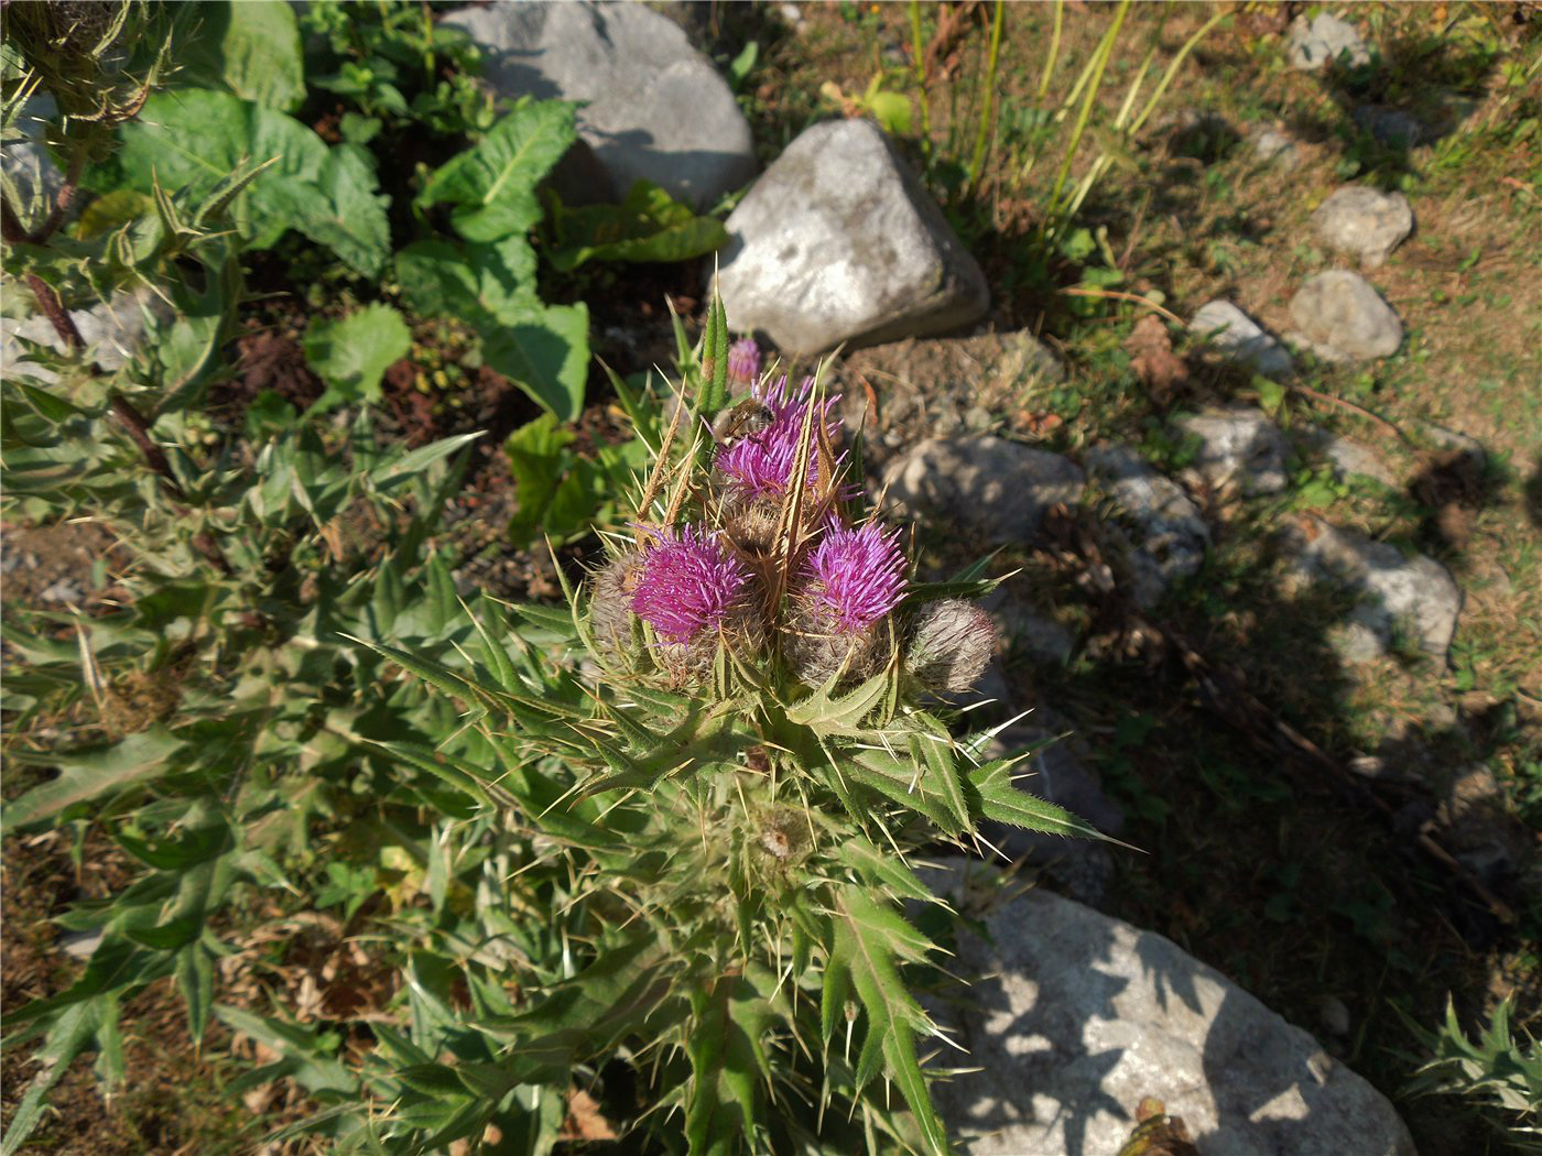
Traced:
<path id="1" fill-rule="evenodd" d="M 450 222 L 467 240 L 524 234 L 541 219 L 537 183 L 575 139 L 572 105 L 523 105 L 475 146 L 435 170 L 418 203 L 453 205 Z"/>

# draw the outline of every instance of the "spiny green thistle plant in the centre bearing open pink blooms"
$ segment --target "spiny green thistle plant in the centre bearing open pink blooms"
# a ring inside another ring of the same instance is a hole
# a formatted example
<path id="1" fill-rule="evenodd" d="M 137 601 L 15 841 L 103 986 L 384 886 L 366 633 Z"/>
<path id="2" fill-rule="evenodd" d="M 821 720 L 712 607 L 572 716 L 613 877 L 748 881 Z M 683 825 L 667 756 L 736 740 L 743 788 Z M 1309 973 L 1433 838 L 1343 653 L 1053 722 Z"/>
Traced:
<path id="1" fill-rule="evenodd" d="M 436 749 L 384 746 L 478 801 L 481 842 L 447 826 L 447 854 L 497 860 L 527 912 L 472 940 L 521 954 L 438 977 L 475 1005 L 416 1042 L 441 1074 L 376 1080 L 402 1096 L 372 1124 L 399 1150 L 509 1134 L 549 1104 L 518 1088 L 578 1085 L 669 1151 L 945 1153 L 924 1064 L 956 1045 L 908 988 L 939 953 L 904 905 L 948 908 L 919 855 L 982 848 L 985 818 L 1095 834 L 1016 786 L 1022 755 L 984 758 L 999 728 L 950 732 L 945 695 L 995 641 L 967 601 L 990 583 L 916 581 L 845 481 L 837 399 L 762 379 L 729 407 L 720 305 L 703 345 L 629 532 L 566 610 L 478 621 L 463 666 L 372 644 L 460 703 Z M 463 1099 L 430 1138 L 435 1084 Z"/>

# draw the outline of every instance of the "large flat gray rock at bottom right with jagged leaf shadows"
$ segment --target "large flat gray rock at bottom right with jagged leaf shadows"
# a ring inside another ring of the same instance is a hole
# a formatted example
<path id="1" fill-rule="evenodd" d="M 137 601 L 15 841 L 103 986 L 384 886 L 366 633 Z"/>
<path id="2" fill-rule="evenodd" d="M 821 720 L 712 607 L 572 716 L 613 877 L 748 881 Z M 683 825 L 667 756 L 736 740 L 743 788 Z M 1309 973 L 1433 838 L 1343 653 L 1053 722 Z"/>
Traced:
<path id="1" fill-rule="evenodd" d="M 933 886 L 990 936 L 948 962 L 988 979 L 933 1010 L 981 1068 L 934 1090 L 970 1156 L 1119 1151 L 1146 1096 L 1204 1153 L 1416 1156 L 1375 1088 L 1172 940 L 1044 889 L 979 912 L 982 888 L 945 866 Z"/>

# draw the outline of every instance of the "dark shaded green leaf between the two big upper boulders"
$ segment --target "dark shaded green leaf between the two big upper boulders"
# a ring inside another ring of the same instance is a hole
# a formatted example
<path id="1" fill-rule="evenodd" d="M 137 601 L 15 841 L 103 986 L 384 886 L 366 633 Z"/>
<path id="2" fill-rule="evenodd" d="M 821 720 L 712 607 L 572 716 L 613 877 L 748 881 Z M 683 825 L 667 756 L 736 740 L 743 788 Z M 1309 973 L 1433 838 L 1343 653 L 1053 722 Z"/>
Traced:
<path id="1" fill-rule="evenodd" d="M 549 259 L 561 271 L 586 260 L 688 260 L 728 242 L 728 230 L 699 217 L 658 185 L 638 180 L 620 205 L 566 208 L 552 197 Z"/>

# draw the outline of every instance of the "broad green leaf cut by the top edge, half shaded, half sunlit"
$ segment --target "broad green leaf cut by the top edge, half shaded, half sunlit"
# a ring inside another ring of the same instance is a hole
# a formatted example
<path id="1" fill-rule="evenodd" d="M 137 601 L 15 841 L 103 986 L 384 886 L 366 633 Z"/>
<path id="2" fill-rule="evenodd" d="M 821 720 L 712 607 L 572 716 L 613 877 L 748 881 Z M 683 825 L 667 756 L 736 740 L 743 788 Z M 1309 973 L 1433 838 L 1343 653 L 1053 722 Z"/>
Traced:
<path id="1" fill-rule="evenodd" d="M 299 25 L 285 0 L 204 0 L 177 45 L 177 80 L 293 113 L 305 99 Z"/>

